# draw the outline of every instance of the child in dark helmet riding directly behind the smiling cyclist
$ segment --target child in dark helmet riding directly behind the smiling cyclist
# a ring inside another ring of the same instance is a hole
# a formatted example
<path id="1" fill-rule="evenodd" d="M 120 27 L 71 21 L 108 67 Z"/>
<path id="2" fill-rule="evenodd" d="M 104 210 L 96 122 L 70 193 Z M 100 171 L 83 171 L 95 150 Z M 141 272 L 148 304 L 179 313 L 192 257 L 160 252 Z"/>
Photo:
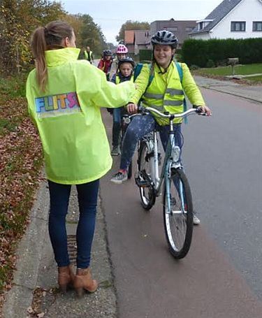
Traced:
<path id="1" fill-rule="evenodd" d="M 120 59 L 118 62 L 117 72 L 112 75 L 111 82 L 119 84 L 119 82 L 125 82 L 126 80 L 133 80 L 133 69 L 135 68 L 135 62 L 131 57 Z M 112 118 L 112 156 L 118 156 L 120 154 L 119 136 L 121 130 L 121 119 L 124 106 L 120 108 L 113 108 Z"/>

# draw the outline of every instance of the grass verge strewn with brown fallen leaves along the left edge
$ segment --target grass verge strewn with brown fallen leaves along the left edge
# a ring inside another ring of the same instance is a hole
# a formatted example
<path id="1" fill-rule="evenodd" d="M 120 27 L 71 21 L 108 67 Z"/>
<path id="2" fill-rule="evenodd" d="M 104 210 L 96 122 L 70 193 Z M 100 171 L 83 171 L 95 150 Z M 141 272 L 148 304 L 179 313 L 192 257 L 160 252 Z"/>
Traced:
<path id="1" fill-rule="evenodd" d="M 0 78 L 0 317 L 4 292 L 11 287 L 17 243 L 41 178 L 43 155 L 27 115 L 25 75 Z M 2 94 L 3 92 L 3 94 Z"/>

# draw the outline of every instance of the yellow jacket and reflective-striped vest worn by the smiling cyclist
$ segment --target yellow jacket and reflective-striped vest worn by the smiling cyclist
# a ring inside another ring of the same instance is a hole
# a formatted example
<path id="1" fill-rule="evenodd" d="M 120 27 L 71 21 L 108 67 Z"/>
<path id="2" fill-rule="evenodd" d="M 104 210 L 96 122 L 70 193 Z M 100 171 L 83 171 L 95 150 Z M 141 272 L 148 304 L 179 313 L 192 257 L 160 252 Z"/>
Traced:
<path id="1" fill-rule="evenodd" d="M 163 68 L 154 64 L 154 69 L 145 64 L 136 78 L 136 93 L 131 98 L 131 103 L 138 103 L 142 98 L 143 106 L 156 108 L 159 111 L 168 111 L 169 113 L 182 113 L 184 93 L 189 101 L 196 106 L 204 106 L 202 94 L 198 89 L 194 78 L 192 77 L 187 64 L 182 63 L 183 78 L 180 82 L 180 75 L 172 62 L 168 70 L 164 73 Z M 150 78 L 150 72 L 154 76 L 150 86 L 147 87 Z M 168 120 L 154 115 L 157 122 L 161 125 L 168 124 Z M 176 119 L 175 123 L 182 122 Z"/>

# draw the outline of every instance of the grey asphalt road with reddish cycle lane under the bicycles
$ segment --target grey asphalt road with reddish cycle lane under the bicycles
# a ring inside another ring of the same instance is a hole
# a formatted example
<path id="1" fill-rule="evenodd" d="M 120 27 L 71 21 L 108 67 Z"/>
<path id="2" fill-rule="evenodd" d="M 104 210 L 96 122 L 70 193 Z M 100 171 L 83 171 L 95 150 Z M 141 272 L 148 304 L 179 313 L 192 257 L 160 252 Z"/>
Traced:
<path id="1" fill-rule="evenodd" d="M 108 173 L 101 181 L 119 318 L 262 317 L 261 104 L 202 92 L 212 117 L 184 127 L 184 166 L 201 218 L 185 259 L 167 250 L 161 198 L 145 212 L 133 180 L 114 185 Z M 106 111 L 104 119 L 110 135 Z"/>

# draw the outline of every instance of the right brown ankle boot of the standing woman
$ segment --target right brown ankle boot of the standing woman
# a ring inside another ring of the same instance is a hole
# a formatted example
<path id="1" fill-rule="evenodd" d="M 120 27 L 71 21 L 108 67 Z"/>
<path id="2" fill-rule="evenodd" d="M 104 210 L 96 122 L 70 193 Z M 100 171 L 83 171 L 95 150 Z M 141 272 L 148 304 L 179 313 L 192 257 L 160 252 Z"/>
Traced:
<path id="1" fill-rule="evenodd" d="M 75 287 L 75 291 L 80 297 L 84 293 L 84 289 L 89 293 L 96 291 L 98 284 L 96 280 L 92 280 L 90 268 L 78 268 L 76 270 L 73 287 Z"/>

